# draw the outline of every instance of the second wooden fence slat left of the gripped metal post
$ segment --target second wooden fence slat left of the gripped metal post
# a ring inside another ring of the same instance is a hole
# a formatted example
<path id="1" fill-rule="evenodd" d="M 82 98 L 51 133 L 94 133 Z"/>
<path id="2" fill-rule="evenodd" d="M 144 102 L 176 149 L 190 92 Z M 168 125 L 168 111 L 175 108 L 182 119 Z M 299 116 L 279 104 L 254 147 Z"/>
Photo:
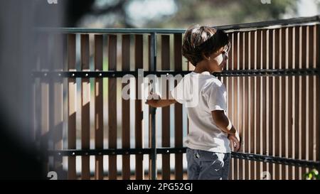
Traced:
<path id="1" fill-rule="evenodd" d="M 122 70 L 130 70 L 130 35 L 122 35 Z M 122 88 L 127 85 L 122 84 Z M 122 149 L 130 148 L 130 99 L 122 98 Z M 130 156 L 122 156 L 122 179 L 130 179 Z"/>

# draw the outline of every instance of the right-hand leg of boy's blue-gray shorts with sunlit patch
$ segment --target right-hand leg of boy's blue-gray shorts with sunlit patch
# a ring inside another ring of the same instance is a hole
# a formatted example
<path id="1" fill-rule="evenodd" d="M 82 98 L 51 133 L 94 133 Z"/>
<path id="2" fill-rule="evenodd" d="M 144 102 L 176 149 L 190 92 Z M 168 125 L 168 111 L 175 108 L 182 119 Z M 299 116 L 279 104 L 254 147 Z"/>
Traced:
<path id="1" fill-rule="evenodd" d="M 201 180 L 228 180 L 230 153 L 199 151 Z"/>

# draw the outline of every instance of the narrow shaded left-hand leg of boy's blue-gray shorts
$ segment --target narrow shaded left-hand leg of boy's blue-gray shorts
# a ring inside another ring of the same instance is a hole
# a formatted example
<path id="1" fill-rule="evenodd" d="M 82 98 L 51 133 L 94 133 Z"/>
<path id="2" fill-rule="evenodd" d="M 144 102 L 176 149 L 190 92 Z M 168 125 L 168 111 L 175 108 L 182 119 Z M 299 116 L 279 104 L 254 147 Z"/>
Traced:
<path id="1" fill-rule="evenodd" d="M 186 158 L 188 163 L 187 173 L 188 180 L 198 180 L 200 173 L 200 166 L 198 164 L 198 152 L 194 149 L 186 150 Z"/>

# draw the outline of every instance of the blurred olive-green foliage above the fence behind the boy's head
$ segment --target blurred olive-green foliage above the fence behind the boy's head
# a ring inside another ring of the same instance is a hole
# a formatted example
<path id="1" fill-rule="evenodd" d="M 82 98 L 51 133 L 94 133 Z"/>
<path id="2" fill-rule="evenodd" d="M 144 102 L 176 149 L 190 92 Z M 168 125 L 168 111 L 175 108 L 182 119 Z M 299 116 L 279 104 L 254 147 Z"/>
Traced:
<path id="1" fill-rule="evenodd" d="M 176 0 L 178 11 L 175 16 L 161 27 L 189 26 L 188 23 L 206 23 L 221 26 L 235 23 L 247 23 L 279 19 L 284 14 L 295 12 L 296 0 L 273 0 L 271 4 L 262 4 L 260 0 Z"/>

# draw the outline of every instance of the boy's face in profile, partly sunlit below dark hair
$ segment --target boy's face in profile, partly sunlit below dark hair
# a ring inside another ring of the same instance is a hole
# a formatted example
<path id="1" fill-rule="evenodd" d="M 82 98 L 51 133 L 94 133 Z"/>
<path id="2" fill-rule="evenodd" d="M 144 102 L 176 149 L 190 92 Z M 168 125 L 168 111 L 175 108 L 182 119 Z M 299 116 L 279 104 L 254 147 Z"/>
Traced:
<path id="1" fill-rule="evenodd" d="M 217 52 L 212 53 L 209 56 L 209 70 L 210 72 L 222 72 L 223 68 L 227 64 L 229 46 L 226 45 L 220 48 Z"/>

